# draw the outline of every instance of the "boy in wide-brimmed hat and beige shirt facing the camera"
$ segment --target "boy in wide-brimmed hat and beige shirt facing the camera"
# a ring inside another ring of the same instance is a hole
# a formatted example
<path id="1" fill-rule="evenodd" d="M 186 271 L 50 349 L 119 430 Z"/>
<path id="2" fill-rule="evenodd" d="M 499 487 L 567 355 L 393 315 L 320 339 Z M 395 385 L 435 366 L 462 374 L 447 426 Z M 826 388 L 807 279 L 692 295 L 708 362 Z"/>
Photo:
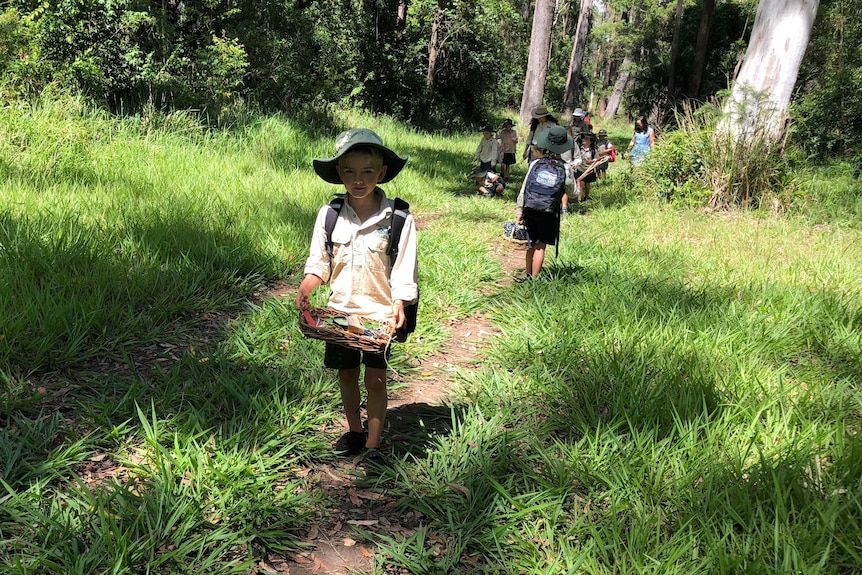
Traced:
<path id="1" fill-rule="evenodd" d="M 332 228 L 331 255 L 327 249 L 326 219 L 331 211 L 323 206 L 314 223 L 305 278 L 296 295 L 296 307 L 308 310 L 311 293 L 329 283 L 329 307 L 376 321 L 404 325 L 405 305 L 419 297 L 417 284 L 416 225 L 409 213 L 404 218 L 394 259 L 387 253 L 396 202 L 378 186 L 394 178 L 407 158 L 383 145 L 371 130 L 343 132 L 335 141 L 335 155 L 314 160 L 314 171 L 324 181 L 341 184 L 345 200 Z M 338 370 L 341 402 L 348 431 L 333 446 L 344 455 L 364 453 L 379 459 L 386 419 L 386 366 L 384 353 L 363 352 L 326 342 L 323 364 Z M 366 433 L 360 414 L 359 377 L 365 366 Z"/>

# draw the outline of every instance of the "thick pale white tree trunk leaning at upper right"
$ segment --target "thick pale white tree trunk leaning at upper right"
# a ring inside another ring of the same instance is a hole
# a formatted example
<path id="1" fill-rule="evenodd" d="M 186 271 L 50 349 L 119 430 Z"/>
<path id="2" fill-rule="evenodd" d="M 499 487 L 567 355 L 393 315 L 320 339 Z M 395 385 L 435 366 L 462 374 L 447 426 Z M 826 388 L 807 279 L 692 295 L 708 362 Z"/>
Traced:
<path id="1" fill-rule="evenodd" d="M 787 107 L 819 0 L 760 0 L 739 77 L 722 126 L 736 141 L 784 135 Z"/>

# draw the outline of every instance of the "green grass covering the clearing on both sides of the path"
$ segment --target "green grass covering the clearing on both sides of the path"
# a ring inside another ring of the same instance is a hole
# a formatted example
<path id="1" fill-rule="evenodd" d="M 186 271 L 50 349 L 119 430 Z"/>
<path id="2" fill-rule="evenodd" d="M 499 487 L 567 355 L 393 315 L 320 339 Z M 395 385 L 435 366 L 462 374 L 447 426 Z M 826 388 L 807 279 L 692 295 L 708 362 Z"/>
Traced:
<path id="1" fill-rule="evenodd" d="M 299 470 L 332 459 L 339 398 L 291 299 L 255 294 L 298 280 L 333 192 L 310 160 L 360 124 L 411 157 L 386 189 L 421 225 L 396 383 L 451 317 L 504 333 L 451 424 L 357 478 L 423 518 L 357 534 L 375 572 L 858 572 L 862 222 L 840 166 L 775 216 L 639 199 L 618 162 L 544 277 L 503 288 L 517 183 L 472 195 L 476 134 L 341 112 L 212 134 L 76 100 L 0 110 L 2 572 L 252 573 L 301 548 L 329 503 Z"/>

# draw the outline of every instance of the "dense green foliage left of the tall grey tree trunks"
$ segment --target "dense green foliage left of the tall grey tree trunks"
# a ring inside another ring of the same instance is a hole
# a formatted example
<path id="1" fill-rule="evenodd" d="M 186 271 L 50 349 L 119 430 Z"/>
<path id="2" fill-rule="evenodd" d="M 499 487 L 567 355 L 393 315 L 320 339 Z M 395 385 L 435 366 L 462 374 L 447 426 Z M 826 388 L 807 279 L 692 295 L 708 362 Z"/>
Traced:
<path id="1" fill-rule="evenodd" d="M 258 106 L 335 103 L 445 128 L 519 103 L 528 39 L 510 0 L 409 8 L 401 20 L 396 0 L 13 0 L 0 21 L 0 74 L 11 96 L 54 84 L 119 112 L 193 108 L 219 124 Z"/>

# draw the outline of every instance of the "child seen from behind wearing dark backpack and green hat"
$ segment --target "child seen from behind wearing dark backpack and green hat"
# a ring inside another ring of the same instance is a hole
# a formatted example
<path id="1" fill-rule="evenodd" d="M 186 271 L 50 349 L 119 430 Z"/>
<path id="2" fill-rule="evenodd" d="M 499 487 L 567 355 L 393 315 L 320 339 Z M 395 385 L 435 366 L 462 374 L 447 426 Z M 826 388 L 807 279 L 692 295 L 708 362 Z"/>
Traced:
<path id="1" fill-rule="evenodd" d="M 517 213 L 518 223 L 526 226 L 530 238 L 525 260 L 528 278 L 539 275 L 545 247 L 557 245 L 560 237 L 560 205 L 566 193 L 566 167 L 560 154 L 573 145 L 562 126 L 553 126 L 539 136 L 536 147 L 542 156 L 530 164 L 521 185 Z"/>

